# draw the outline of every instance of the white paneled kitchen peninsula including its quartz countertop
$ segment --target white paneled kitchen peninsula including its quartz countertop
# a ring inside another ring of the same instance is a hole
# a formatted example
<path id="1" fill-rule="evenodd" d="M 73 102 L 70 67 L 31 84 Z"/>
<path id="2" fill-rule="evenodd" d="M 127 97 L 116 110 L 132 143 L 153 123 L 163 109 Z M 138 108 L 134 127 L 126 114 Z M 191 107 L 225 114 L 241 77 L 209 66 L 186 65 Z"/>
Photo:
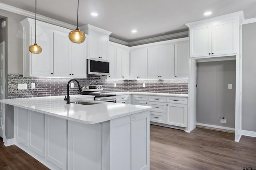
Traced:
<path id="1" fill-rule="evenodd" d="M 149 170 L 151 107 L 92 96 L 6 99 L 14 106 L 14 145 L 54 170 Z M 87 105 L 72 102 L 85 102 Z"/>

